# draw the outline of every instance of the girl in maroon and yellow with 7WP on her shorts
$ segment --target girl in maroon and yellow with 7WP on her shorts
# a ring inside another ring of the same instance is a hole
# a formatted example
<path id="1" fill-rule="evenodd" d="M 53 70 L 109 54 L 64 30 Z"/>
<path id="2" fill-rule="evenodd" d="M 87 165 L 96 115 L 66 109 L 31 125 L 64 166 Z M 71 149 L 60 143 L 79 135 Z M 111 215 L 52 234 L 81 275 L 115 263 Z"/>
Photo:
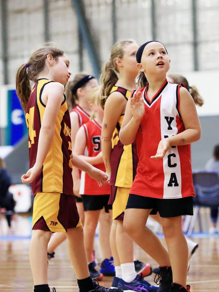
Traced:
<path id="1" fill-rule="evenodd" d="M 73 196 L 72 165 L 88 172 L 99 185 L 108 183 L 108 176 L 72 154 L 71 124 L 63 86 L 70 75 L 64 51 L 51 46 L 36 50 L 16 74 L 16 92 L 29 130 L 30 169 L 21 180 L 31 183 L 35 196 L 29 252 L 35 292 L 50 291 L 47 244 L 52 232 L 66 234 L 80 291 L 88 292 L 97 286 L 87 267 L 83 228 Z M 34 82 L 33 88 L 30 81 Z"/>

